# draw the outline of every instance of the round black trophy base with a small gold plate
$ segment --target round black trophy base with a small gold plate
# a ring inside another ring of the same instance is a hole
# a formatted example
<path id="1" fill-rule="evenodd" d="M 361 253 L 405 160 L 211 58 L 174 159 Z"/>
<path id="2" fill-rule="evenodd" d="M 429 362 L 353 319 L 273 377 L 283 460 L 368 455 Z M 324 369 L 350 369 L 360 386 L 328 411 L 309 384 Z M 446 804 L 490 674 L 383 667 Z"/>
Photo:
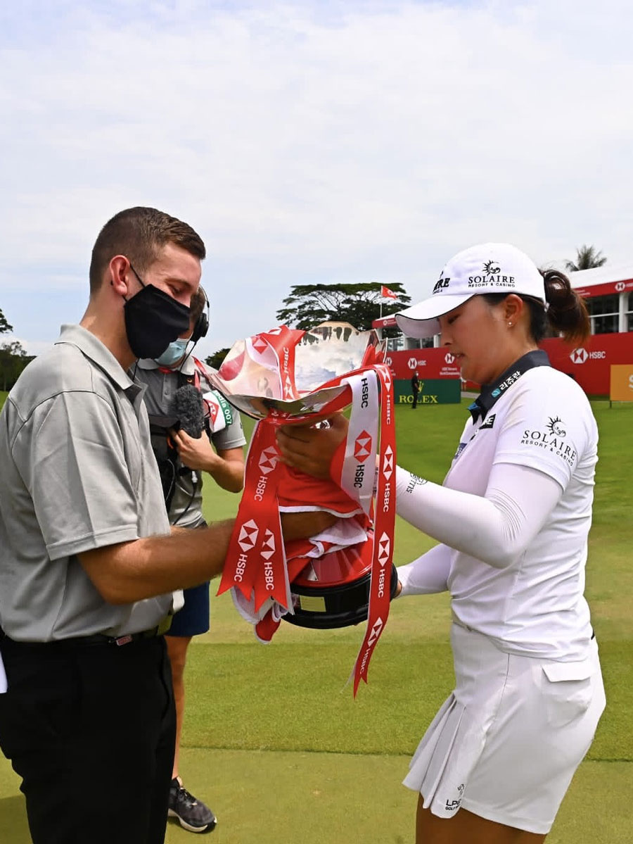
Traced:
<path id="1" fill-rule="evenodd" d="M 294 614 L 287 613 L 283 620 L 298 627 L 314 630 L 332 630 L 336 627 L 350 627 L 367 621 L 369 605 L 369 584 L 371 573 L 356 581 L 330 587 L 307 587 L 290 584 Z M 391 566 L 390 597 L 394 598 L 398 587 L 398 572 Z"/>

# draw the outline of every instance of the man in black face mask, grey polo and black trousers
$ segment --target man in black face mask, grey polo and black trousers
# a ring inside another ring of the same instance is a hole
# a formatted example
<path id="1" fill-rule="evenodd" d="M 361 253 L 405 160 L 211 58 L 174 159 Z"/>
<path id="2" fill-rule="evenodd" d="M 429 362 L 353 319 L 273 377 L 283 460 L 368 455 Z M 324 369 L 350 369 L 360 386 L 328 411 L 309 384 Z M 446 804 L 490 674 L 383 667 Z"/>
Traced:
<path id="1" fill-rule="evenodd" d="M 217 575 L 231 522 L 170 534 L 126 370 L 189 323 L 205 247 L 153 208 L 99 234 L 88 309 L 0 415 L 0 747 L 34 844 L 160 844 L 174 755 L 165 619 Z"/>

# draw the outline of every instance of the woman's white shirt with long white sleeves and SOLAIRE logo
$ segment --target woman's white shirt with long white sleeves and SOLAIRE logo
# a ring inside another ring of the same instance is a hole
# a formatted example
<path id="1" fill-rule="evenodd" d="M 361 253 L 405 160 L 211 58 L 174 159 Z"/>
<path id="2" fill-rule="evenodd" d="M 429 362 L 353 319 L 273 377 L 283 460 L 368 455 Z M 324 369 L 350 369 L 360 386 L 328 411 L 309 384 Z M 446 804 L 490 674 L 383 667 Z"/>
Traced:
<path id="1" fill-rule="evenodd" d="M 468 420 L 443 486 L 399 468 L 400 516 L 441 543 L 399 568 L 402 593 L 446 584 L 453 617 L 502 650 L 584 658 L 597 444 L 580 387 L 538 366 Z"/>

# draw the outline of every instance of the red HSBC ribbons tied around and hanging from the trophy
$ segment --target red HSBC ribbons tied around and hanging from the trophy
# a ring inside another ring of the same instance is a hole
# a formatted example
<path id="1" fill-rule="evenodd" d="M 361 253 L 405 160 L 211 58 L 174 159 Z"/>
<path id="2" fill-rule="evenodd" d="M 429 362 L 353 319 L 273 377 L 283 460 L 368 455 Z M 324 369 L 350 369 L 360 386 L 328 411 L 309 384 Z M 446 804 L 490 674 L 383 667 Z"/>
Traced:
<path id="1" fill-rule="evenodd" d="M 264 349 L 268 344 L 273 349 L 279 361 L 279 371 L 282 378 L 282 392 L 284 398 L 298 398 L 294 385 L 294 349 L 303 332 L 292 331 L 287 327 L 273 329 L 271 332 L 256 335 L 252 343 Z M 255 598 L 255 611 L 259 610 L 267 598 L 273 598 L 282 607 L 292 612 L 290 585 L 287 574 L 286 552 L 283 544 L 281 522 L 279 515 L 279 501 L 277 489 L 287 468 L 278 461 L 275 441 L 275 426 L 283 424 L 300 424 L 315 422 L 341 410 L 351 401 L 351 392 L 358 393 L 358 379 L 354 376 L 364 376 L 364 380 L 377 378 L 380 388 L 380 434 L 379 434 L 379 470 L 377 495 L 374 501 L 367 494 L 367 483 L 373 485 L 373 457 L 374 449 L 371 431 L 364 428 L 356 430 L 345 450 L 337 452 L 332 468 L 332 478 L 340 484 L 345 492 L 358 500 L 368 516 L 374 517 L 373 534 L 367 542 L 372 546 L 372 569 L 369 592 L 369 607 L 367 630 L 352 672 L 353 693 L 357 694 L 360 680 L 367 683 L 367 670 L 384 626 L 389 617 L 390 582 L 393 560 L 393 537 L 395 521 L 395 433 L 394 433 L 394 402 L 393 386 L 389 367 L 375 362 L 375 349 L 367 350 L 363 359 L 363 366 L 357 371 L 347 373 L 328 381 L 319 389 L 336 387 L 347 384 L 347 389 L 337 398 L 328 403 L 317 414 L 303 414 L 289 416 L 281 410 L 271 409 L 267 419 L 255 426 L 253 438 L 249 446 L 246 460 L 244 493 L 239 505 L 238 517 L 233 529 L 233 535 L 228 548 L 227 560 L 224 565 L 223 577 L 217 594 L 234 587 L 249 599 Z M 361 379 L 362 381 L 363 379 Z M 348 382 L 352 382 L 350 387 Z M 365 385 L 362 385 L 362 399 L 365 403 Z M 375 396 L 375 389 L 373 389 Z M 352 406 L 352 419 L 354 419 Z M 365 414 L 373 414 L 373 408 L 364 410 Z M 367 418 L 367 417 L 366 417 Z M 357 428 L 361 427 L 357 420 Z M 375 421 L 374 421 L 375 425 Z M 367 425 L 367 427 L 372 427 Z M 374 434 L 375 436 L 375 434 Z M 343 459 L 343 456 L 346 459 Z M 352 463 L 351 463 L 352 461 Z M 356 463 L 354 464 L 353 461 Z M 352 483 L 350 466 L 362 467 L 362 483 Z M 344 477 L 345 470 L 345 477 Z M 371 485 L 369 491 L 371 492 Z M 318 502 L 316 502 L 318 503 Z M 373 505 L 373 506 L 372 506 Z M 264 619 L 262 619 L 263 621 Z M 261 623 L 260 625 L 261 626 Z M 265 638 L 270 638 L 276 630 L 276 625 L 268 625 L 270 630 Z"/>

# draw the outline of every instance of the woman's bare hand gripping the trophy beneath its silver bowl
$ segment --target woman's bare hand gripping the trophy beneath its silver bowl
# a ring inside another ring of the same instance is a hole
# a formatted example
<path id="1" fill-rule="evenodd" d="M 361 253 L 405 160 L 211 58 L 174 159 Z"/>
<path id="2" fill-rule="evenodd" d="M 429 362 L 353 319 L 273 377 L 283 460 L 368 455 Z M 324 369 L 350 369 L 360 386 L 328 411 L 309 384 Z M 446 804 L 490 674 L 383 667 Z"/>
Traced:
<path id="1" fill-rule="evenodd" d="M 281 425 L 276 441 L 282 463 L 314 478 L 330 478 L 330 464 L 336 449 L 347 436 L 349 423 L 343 414 L 327 420 L 329 427 Z"/>

